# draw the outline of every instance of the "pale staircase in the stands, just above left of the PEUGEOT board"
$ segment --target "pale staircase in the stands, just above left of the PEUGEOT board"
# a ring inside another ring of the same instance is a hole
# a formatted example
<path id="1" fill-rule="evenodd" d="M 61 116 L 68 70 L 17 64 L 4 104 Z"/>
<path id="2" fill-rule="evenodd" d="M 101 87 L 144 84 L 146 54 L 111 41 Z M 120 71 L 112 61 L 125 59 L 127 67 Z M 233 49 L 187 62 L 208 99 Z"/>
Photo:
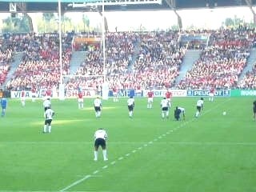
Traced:
<path id="1" fill-rule="evenodd" d="M 178 85 L 178 83 L 182 80 L 182 78 L 185 77 L 186 72 L 192 68 L 194 62 L 197 61 L 198 58 L 200 58 L 200 53 L 201 53 L 201 50 L 186 50 L 186 54 L 183 58 L 179 75 L 175 79 L 176 85 Z"/>

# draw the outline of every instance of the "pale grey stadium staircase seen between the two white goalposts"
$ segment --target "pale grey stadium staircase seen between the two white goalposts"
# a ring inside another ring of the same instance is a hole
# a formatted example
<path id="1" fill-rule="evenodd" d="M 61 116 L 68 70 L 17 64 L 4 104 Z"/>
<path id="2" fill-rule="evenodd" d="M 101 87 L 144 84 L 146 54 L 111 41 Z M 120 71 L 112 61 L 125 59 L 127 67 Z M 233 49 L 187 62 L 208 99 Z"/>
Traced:
<path id="1" fill-rule="evenodd" d="M 78 67 L 85 61 L 86 51 L 73 51 L 70 60 L 70 74 L 75 74 Z"/>

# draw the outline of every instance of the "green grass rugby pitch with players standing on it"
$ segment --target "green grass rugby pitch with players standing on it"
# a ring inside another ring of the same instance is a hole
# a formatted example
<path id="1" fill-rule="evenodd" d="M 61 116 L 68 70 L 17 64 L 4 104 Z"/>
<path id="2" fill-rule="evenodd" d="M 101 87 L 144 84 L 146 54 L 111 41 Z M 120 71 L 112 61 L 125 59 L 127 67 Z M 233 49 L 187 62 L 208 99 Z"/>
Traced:
<path id="1" fill-rule="evenodd" d="M 254 98 L 174 98 L 186 120 L 162 120 L 160 99 L 146 109 L 135 98 L 134 118 L 126 98 L 103 101 L 96 119 L 92 99 L 78 110 L 75 99 L 52 100 L 52 133 L 42 134 L 42 100 L 8 102 L 0 118 L 0 191 L 253 192 L 256 191 Z M 222 115 L 226 110 L 227 114 Z M 94 162 L 94 131 L 109 135 L 109 160 Z"/>

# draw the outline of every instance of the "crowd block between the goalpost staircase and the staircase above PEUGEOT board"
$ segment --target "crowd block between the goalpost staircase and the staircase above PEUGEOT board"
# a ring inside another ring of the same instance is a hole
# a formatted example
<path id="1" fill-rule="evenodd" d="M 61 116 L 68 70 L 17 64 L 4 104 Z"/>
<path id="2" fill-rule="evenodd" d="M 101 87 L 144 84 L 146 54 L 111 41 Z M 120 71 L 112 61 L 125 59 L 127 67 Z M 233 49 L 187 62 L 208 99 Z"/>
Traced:
<path id="1" fill-rule="evenodd" d="M 169 88 L 178 76 L 184 54 L 185 49 L 178 46 L 178 32 L 108 33 L 106 79 L 110 89 Z M 103 75 L 100 47 L 90 50 L 76 74 Z M 103 82 L 103 78 L 85 79 L 73 78 L 67 86 L 97 89 Z"/>

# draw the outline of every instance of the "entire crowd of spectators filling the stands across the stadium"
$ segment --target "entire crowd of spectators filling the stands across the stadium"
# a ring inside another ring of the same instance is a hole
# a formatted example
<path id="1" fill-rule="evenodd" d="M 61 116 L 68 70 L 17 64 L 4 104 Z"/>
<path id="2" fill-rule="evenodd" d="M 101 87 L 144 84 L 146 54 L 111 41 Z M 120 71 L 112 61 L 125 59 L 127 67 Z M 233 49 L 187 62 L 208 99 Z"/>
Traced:
<path id="1" fill-rule="evenodd" d="M 202 31 L 193 31 L 198 37 L 196 33 Z M 78 67 L 76 77 L 67 80 L 66 89 L 98 90 L 105 80 L 109 82 L 110 89 L 118 90 L 255 88 L 255 66 L 238 82 L 256 39 L 254 30 L 204 30 L 203 34 L 209 37 L 208 45 L 203 41 L 204 45 L 198 46 L 196 42 L 196 46 L 202 49 L 200 58 L 186 77 L 177 83 L 175 79 L 187 48 L 179 42 L 178 31 L 106 33 L 105 57 L 102 42 L 88 46 L 84 62 Z M 70 74 L 73 36 L 74 33 L 70 33 L 62 37 L 64 75 Z M 0 82 L 5 81 L 10 68 L 10 65 L 2 63 L 10 62 L 12 50 L 23 53 L 22 62 L 6 84 L 7 89 L 58 87 L 61 74 L 58 34 L 9 34 L 4 39 L 10 49 L 0 52 Z"/>

